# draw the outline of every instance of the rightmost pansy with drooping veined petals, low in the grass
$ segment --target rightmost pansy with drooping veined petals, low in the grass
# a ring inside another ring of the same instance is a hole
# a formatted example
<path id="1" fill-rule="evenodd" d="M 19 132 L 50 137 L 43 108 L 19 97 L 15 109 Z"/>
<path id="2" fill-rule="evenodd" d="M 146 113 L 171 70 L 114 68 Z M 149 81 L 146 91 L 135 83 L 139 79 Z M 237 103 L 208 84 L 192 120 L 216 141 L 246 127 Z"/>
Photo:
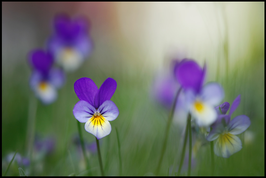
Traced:
<path id="1" fill-rule="evenodd" d="M 217 139 L 214 145 L 214 153 L 217 156 L 229 158 L 229 156 L 242 149 L 242 142 L 235 135 L 244 132 L 250 126 L 250 119 L 246 115 L 240 115 L 231 120 L 231 115 L 239 103 L 240 95 L 233 101 L 228 115 L 226 115 L 226 112 L 229 107 L 224 111 L 221 109 L 223 114 L 218 116 L 217 121 L 212 125 L 213 130 L 206 138 L 208 141 Z M 224 103 L 223 105 L 228 106 L 228 104 Z"/>

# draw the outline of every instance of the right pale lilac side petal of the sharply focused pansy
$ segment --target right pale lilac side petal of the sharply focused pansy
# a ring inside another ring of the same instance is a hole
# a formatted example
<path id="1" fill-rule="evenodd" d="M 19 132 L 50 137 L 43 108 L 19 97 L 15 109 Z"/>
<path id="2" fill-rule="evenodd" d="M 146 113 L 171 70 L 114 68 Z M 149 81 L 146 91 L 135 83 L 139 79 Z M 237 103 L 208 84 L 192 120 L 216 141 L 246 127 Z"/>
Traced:
<path id="1" fill-rule="evenodd" d="M 111 100 L 104 101 L 98 108 L 98 112 L 106 118 L 107 121 L 113 121 L 119 115 L 117 106 Z"/>

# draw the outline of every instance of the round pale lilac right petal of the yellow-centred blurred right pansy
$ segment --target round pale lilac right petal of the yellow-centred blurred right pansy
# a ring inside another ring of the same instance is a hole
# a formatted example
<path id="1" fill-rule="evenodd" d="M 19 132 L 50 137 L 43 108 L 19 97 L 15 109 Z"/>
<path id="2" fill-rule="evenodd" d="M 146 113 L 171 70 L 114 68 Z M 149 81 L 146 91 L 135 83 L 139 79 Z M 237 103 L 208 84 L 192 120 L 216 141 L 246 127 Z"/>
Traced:
<path id="1" fill-rule="evenodd" d="M 201 99 L 210 105 L 221 103 L 224 97 L 223 88 L 220 84 L 211 82 L 206 84 L 201 91 Z"/>

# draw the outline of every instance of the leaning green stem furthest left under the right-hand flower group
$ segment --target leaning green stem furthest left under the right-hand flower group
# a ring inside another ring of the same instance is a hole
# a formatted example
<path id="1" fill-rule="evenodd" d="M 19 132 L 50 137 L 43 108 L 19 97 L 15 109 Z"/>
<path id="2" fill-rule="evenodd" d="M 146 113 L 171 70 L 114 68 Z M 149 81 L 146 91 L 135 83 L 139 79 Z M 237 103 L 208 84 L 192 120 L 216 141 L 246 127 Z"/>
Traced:
<path id="1" fill-rule="evenodd" d="M 169 113 L 169 117 L 168 117 L 168 121 L 167 121 L 167 125 L 166 125 L 166 131 L 165 131 L 165 136 L 164 136 L 164 143 L 163 143 L 163 148 L 162 148 L 162 151 L 161 151 L 161 156 L 160 156 L 160 159 L 159 159 L 159 162 L 158 162 L 158 166 L 157 166 L 157 169 L 156 169 L 156 175 L 159 174 L 160 172 L 160 168 L 161 168 L 161 163 L 163 161 L 163 156 L 164 156 L 164 152 L 165 152 L 165 149 L 166 149 L 166 145 L 167 145 L 167 139 L 168 139 L 168 136 L 169 136 L 169 130 L 170 130 L 170 125 L 172 123 L 172 120 L 173 120 L 173 115 L 174 115 L 174 109 L 176 108 L 176 102 L 177 102 L 177 99 L 178 99 L 178 96 L 181 92 L 181 87 L 178 89 L 177 93 L 176 93 L 176 97 L 174 99 L 174 102 L 172 104 L 172 109 Z"/>

